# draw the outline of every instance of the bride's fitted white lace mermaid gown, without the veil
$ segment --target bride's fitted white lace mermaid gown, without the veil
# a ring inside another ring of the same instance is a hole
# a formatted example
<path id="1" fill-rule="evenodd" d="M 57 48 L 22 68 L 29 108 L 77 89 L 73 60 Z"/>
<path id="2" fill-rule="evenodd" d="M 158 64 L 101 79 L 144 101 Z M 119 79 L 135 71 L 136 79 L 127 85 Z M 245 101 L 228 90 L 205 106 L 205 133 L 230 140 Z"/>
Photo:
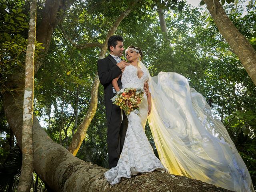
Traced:
<path id="1" fill-rule="evenodd" d="M 122 74 L 123 88 L 142 88 L 149 76 L 142 68 L 143 75 L 137 76 L 138 69 L 132 65 L 126 66 Z M 122 153 L 116 167 L 108 170 L 104 175 L 110 184 L 117 184 L 122 177 L 130 178 L 143 172 L 158 170 L 167 172 L 160 160 L 154 155 L 152 147 L 144 132 L 148 117 L 148 101 L 144 94 L 139 106 L 139 113 L 131 112 L 128 116 L 128 128 Z"/>

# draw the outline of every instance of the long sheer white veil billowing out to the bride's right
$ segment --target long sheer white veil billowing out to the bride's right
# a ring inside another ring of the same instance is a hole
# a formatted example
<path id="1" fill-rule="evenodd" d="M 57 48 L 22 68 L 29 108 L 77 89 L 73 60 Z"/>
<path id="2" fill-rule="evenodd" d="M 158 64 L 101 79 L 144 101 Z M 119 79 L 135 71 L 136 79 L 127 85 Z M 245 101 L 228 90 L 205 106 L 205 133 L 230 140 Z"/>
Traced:
<path id="1" fill-rule="evenodd" d="M 138 65 L 146 69 L 142 62 Z M 160 72 L 149 79 L 149 88 L 148 122 L 160 160 L 171 174 L 254 192 L 248 169 L 225 126 L 184 76 Z"/>

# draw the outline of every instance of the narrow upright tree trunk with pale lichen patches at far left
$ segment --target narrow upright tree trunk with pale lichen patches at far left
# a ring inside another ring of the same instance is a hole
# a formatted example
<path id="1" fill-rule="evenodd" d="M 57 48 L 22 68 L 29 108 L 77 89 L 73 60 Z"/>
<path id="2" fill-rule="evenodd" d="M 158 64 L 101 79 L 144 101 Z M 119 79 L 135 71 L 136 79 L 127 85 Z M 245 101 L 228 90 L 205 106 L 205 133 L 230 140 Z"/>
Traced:
<path id="1" fill-rule="evenodd" d="M 30 1 L 30 22 L 26 50 L 25 88 L 22 124 L 22 168 L 18 184 L 19 192 L 30 192 L 34 172 L 33 154 L 33 99 L 34 99 L 34 55 L 36 44 L 36 0 Z"/>

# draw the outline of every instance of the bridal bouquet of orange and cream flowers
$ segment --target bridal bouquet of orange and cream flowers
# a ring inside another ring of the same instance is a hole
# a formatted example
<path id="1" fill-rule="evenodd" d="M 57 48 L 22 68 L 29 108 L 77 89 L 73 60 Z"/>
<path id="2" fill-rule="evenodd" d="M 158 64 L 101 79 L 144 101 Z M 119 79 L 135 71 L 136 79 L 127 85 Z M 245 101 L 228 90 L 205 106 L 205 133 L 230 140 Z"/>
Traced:
<path id="1" fill-rule="evenodd" d="M 142 102 L 144 90 L 141 88 L 121 89 L 111 100 L 113 104 L 120 106 L 127 114 L 132 111 L 138 112 L 139 104 Z"/>

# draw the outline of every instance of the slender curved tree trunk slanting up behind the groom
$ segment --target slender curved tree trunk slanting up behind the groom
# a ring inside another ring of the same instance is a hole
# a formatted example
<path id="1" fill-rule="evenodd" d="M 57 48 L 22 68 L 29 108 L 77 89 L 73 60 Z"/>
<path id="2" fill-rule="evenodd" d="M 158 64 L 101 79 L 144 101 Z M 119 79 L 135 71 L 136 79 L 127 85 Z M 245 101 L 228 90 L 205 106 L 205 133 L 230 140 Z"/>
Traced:
<path id="1" fill-rule="evenodd" d="M 119 26 L 119 24 L 122 22 L 122 20 L 132 11 L 132 8 L 134 7 L 134 5 L 136 4 L 138 0 L 134 0 L 130 6 L 127 8 L 127 10 L 125 10 L 124 12 L 122 12 L 120 14 L 120 16 L 116 19 L 116 21 L 114 22 L 113 26 L 110 28 L 108 35 L 104 41 L 104 43 L 102 44 L 102 48 L 100 51 L 100 55 L 99 55 L 99 59 L 103 59 L 106 55 L 107 49 L 108 49 L 108 39 L 110 38 L 110 36 L 112 36 L 115 32 L 117 27 Z M 62 31 L 64 32 L 63 28 Z M 76 46 L 76 44 L 74 44 L 74 42 L 71 41 L 71 38 L 69 38 L 67 36 L 67 34 L 64 32 L 64 36 L 74 45 Z M 92 90 L 91 90 L 91 102 L 90 102 L 90 107 L 86 113 L 86 116 L 84 118 L 84 120 L 82 121 L 82 123 L 80 124 L 80 126 L 78 127 L 78 129 L 76 130 L 76 133 L 74 134 L 72 141 L 69 145 L 68 150 L 74 155 L 76 156 L 85 136 L 86 136 L 86 132 L 88 130 L 88 127 L 90 125 L 90 122 L 92 121 L 92 118 L 94 117 L 95 113 L 96 113 L 96 109 L 97 109 L 97 103 L 98 103 L 98 87 L 100 85 L 100 80 L 98 77 L 98 74 L 95 76 L 94 78 L 94 82 L 92 85 Z"/>

